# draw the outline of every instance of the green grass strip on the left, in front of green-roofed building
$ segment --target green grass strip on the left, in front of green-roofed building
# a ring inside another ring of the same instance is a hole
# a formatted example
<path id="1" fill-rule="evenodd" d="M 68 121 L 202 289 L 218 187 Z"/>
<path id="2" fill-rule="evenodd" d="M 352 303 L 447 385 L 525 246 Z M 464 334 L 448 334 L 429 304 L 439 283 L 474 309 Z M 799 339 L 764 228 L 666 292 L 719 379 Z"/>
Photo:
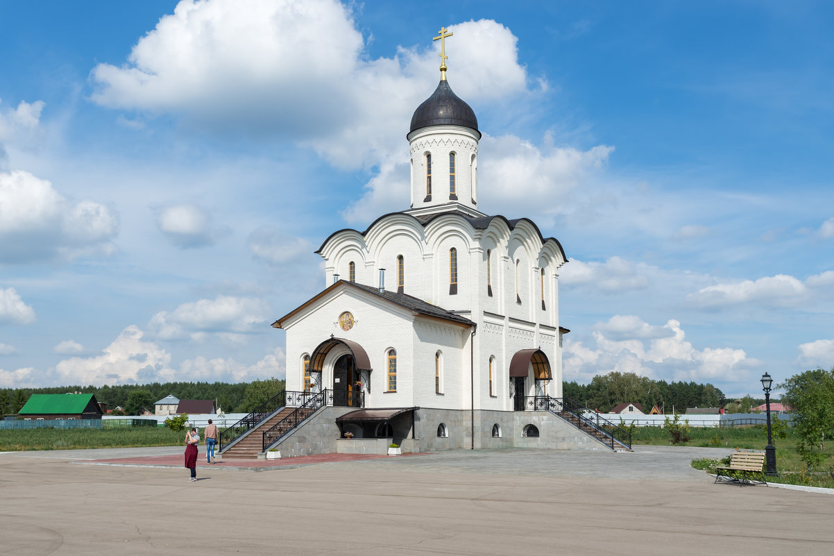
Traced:
<path id="1" fill-rule="evenodd" d="M 163 427 L 0 430 L 0 452 L 101 447 L 177 446 L 184 433 Z"/>

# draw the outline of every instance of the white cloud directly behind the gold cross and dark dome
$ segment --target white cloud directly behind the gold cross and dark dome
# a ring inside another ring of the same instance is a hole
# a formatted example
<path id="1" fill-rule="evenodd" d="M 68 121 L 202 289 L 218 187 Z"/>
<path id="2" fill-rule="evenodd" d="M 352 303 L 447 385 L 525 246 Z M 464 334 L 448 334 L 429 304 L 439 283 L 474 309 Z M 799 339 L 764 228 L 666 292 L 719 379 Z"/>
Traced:
<path id="1" fill-rule="evenodd" d="M 452 64 L 449 83 L 461 99 L 477 106 L 517 98 L 530 101 L 528 97 L 540 94 L 527 88 L 517 38 L 509 28 L 481 19 L 451 25 L 450 31 L 457 42 L 454 53 L 446 51 Z M 433 92 L 426 83 L 440 78 L 439 50 L 438 41 L 428 50 L 399 48 L 394 58 L 360 63 L 348 78 L 348 96 L 340 99 L 353 102 L 352 119 L 334 122 L 323 130 L 326 133 L 302 144 L 339 167 L 378 166 L 379 174 L 389 174 L 394 161 L 402 160 L 403 134 L 414 109 Z M 376 189 L 374 183 L 366 187 Z M 402 199 L 408 195 L 400 197 L 397 209 Z"/>

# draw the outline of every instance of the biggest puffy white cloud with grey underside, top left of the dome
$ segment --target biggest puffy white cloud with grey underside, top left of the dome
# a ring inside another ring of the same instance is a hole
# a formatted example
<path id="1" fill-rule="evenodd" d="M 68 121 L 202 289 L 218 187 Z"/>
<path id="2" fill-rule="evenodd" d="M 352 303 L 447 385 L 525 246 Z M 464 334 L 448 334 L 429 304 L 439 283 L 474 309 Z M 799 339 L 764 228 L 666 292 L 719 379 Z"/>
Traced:
<path id="1" fill-rule="evenodd" d="M 303 134 L 343 119 L 344 102 L 355 102 L 362 47 L 347 8 L 333 0 L 183 0 L 127 64 L 93 68 L 93 100 Z"/>

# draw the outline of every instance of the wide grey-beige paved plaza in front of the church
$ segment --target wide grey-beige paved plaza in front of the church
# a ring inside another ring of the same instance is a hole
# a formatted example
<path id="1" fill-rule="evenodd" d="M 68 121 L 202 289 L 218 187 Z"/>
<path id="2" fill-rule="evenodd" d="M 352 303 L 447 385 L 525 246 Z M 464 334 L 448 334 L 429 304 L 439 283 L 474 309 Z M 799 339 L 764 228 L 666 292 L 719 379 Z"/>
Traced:
<path id="1" fill-rule="evenodd" d="M 299 458 L 261 473 L 225 462 L 196 483 L 165 467 L 182 452 L 0 454 L 0 553 L 834 553 L 834 496 L 689 467 L 720 448 Z"/>

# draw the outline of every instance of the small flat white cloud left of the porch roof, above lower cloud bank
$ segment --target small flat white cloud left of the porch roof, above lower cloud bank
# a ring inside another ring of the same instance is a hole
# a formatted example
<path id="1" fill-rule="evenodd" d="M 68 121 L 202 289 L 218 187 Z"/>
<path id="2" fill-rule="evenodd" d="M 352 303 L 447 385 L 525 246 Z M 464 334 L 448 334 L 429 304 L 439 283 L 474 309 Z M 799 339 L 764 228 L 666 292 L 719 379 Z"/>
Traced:
<path id="1" fill-rule="evenodd" d="M 239 343 L 238 336 L 254 325 L 267 321 L 269 306 L 264 301 L 250 297 L 217 296 L 214 300 L 201 299 L 183 303 L 174 311 L 160 311 L 148 322 L 148 329 L 162 340 L 180 340 L 190 337 L 193 341 L 206 341 L 208 334 Z"/>

